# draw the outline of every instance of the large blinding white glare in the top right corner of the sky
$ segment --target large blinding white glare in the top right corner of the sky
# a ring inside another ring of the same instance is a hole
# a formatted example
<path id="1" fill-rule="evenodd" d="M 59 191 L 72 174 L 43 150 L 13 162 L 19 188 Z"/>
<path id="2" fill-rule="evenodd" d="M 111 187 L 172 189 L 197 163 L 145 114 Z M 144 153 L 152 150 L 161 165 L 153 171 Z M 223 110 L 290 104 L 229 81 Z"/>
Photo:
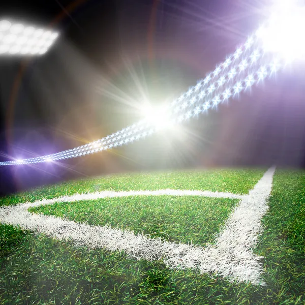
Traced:
<path id="1" fill-rule="evenodd" d="M 278 53 L 288 62 L 304 59 L 305 6 L 295 0 L 282 0 L 277 1 L 271 10 L 268 22 L 256 33 L 264 50 Z"/>

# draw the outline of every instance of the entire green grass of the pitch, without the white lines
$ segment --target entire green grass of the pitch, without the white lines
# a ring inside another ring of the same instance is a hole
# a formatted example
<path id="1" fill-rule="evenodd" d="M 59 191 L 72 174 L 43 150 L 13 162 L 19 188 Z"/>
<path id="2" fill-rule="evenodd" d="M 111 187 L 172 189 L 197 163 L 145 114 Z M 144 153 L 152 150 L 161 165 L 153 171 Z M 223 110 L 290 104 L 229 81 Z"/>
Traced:
<path id="1" fill-rule="evenodd" d="M 82 179 L 1 198 L 1 205 L 103 190 L 207 190 L 247 194 L 265 169 L 125 174 Z M 237 199 L 131 196 L 31 208 L 89 225 L 144 232 L 204 246 L 214 242 Z M 0 225 L 0 304 L 305 304 L 305 172 L 277 170 L 254 250 L 266 286 L 229 282 L 123 252 L 75 247 Z"/>

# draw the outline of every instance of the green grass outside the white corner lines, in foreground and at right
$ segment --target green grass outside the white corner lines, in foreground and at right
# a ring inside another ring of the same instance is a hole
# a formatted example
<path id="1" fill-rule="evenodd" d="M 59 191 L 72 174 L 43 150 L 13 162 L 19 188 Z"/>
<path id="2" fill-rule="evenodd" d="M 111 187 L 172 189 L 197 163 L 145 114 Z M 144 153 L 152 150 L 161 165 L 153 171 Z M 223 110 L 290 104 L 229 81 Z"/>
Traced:
<path id="1" fill-rule="evenodd" d="M 277 170 L 269 206 L 255 249 L 265 257 L 265 287 L 1 225 L 0 304 L 305 304 L 305 172 Z"/>

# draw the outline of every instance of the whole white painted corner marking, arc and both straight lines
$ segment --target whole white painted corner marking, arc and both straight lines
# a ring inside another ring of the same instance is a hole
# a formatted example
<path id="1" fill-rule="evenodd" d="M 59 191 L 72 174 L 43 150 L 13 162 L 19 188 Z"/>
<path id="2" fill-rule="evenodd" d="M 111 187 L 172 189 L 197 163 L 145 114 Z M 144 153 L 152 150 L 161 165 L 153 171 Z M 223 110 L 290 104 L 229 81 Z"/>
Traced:
<path id="1" fill-rule="evenodd" d="M 272 177 L 275 168 L 270 168 L 258 181 L 249 195 L 230 193 L 213 193 L 206 191 L 130 191 L 97 192 L 59 197 L 23 203 L 17 206 L 0 208 L 0 222 L 20 226 L 37 233 L 61 240 L 73 240 L 76 246 L 104 248 L 110 251 L 124 250 L 136 259 L 159 260 L 172 268 L 195 268 L 202 273 L 215 272 L 230 280 L 250 281 L 252 284 L 264 285 L 261 280 L 263 271 L 261 257 L 252 253 L 258 234 L 261 232 L 261 218 L 268 209 L 267 199 L 271 192 Z M 184 243 L 167 242 L 161 238 L 148 238 L 143 234 L 135 235 L 129 230 L 120 230 L 110 226 L 89 226 L 77 224 L 53 216 L 31 214 L 29 207 L 55 202 L 72 202 L 76 200 L 98 199 L 105 197 L 148 195 L 208 196 L 222 198 L 241 198 L 225 223 L 222 233 L 215 245 L 205 248 Z"/>

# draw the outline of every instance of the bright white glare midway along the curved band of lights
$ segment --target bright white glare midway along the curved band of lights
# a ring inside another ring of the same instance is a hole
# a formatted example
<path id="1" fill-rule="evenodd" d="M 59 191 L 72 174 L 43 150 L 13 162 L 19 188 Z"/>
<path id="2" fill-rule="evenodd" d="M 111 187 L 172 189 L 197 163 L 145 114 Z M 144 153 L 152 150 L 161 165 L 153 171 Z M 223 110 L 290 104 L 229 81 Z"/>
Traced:
<path id="1" fill-rule="evenodd" d="M 146 105 L 142 108 L 142 114 L 145 117 L 145 121 L 157 129 L 165 129 L 172 124 L 169 111 L 164 106 L 153 107 Z"/>

